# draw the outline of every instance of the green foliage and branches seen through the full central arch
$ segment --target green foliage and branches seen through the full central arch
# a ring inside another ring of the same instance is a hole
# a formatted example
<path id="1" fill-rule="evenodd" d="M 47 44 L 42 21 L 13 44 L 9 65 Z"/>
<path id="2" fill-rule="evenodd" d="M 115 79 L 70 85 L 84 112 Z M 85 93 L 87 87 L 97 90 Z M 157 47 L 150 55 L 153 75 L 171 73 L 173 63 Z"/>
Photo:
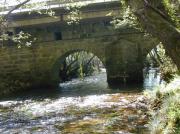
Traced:
<path id="1" fill-rule="evenodd" d="M 80 51 L 67 56 L 60 67 L 60 78 L 62 81 L 68 81 L 73 78 L 83 79 L 85 76 L 91 76 L 100 71 L 102 62 L 92 53 Z"/>

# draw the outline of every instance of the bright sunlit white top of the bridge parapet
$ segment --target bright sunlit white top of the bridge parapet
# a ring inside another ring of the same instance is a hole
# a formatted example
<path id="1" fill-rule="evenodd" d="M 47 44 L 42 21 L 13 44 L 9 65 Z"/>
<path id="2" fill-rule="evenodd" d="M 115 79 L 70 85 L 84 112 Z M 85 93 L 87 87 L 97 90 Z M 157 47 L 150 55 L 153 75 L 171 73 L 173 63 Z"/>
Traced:
<path id="1" fill-rule="evenodd" d="M 104 4 L 113 2 L 119 2 L 119 0 L 31 0 L 24 6 L 14 10 L 12 14 L 22 14 L 46 9 L 64 9 L 75 5 L 87 6 L 90 4 Z M 4 4 L 6 5 L 4 6 Z M 17 4 L 19 4 L 19 2 L 13 0 L 6 1 L 6 3 L 0 3 L 0 15 L 7 14 L 8 11 L 10 11 Z"/>

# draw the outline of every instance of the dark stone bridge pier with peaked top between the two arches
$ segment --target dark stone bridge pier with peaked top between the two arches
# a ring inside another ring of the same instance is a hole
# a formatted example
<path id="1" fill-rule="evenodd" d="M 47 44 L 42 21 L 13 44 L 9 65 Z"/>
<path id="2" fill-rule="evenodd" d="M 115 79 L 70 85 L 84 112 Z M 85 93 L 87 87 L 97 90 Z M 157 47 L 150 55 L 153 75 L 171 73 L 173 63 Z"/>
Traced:
<path id="1" fill-rule="evenodd" d="M 140 45 L 127 40 L 110 45 L 106 51 L 107 82 L 110 87 L 143 82 Z"/>

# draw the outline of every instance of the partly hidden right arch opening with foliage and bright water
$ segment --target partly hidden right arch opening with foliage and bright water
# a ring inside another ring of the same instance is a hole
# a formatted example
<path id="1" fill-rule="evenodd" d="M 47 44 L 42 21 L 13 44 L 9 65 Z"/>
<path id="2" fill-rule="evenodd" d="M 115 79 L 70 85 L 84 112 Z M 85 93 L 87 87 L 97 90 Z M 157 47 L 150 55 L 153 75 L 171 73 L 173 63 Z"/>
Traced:
<path id="1" fill-rule="evenodd" d="M 158 78 L 158 83 L 169 82 L 177 72 L 177 66 L 166 54 L 162 43 L 156 45 L 147 54 L 144 61 L 144 77 L 152 77 L 151 80 Z M 156 83 L 156 82 L 154 82 Z"/>

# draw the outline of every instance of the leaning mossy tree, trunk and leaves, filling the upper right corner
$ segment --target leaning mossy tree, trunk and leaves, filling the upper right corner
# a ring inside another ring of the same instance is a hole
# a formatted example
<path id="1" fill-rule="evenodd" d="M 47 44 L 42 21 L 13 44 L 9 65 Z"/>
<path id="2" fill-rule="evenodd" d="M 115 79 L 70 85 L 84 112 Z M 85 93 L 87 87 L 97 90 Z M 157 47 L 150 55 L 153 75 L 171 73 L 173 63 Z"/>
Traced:
<path id="1" fill-rule="evenodd" d="M 125 2 L 143 29 L 163 43 L 167 55 L 180 70 L 180 3 L 175 0 L 125 0 Z"/>

